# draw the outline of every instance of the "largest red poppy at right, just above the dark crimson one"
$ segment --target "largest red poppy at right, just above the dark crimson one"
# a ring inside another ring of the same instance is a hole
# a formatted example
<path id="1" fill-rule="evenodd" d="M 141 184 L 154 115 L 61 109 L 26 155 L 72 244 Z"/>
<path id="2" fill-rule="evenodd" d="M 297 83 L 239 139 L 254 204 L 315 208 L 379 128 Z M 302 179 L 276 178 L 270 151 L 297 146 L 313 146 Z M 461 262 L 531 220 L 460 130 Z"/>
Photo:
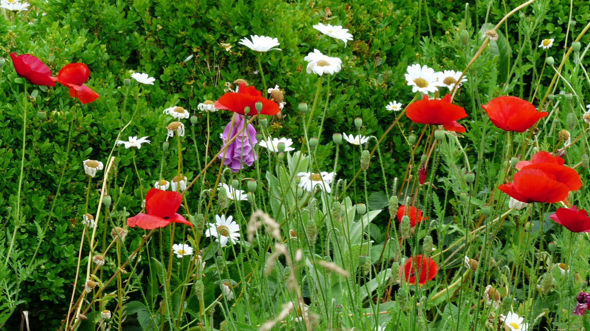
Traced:
<path id="1" fill-rule="evenodd" d="M 498 186 L 504 193 L 525 203 L 556 203 L 568 197 L 569 191 L 581 187 L 582 181 L 575 170 L 553 163 L 525 166 L 514 174 L 512 183 Z"/>

